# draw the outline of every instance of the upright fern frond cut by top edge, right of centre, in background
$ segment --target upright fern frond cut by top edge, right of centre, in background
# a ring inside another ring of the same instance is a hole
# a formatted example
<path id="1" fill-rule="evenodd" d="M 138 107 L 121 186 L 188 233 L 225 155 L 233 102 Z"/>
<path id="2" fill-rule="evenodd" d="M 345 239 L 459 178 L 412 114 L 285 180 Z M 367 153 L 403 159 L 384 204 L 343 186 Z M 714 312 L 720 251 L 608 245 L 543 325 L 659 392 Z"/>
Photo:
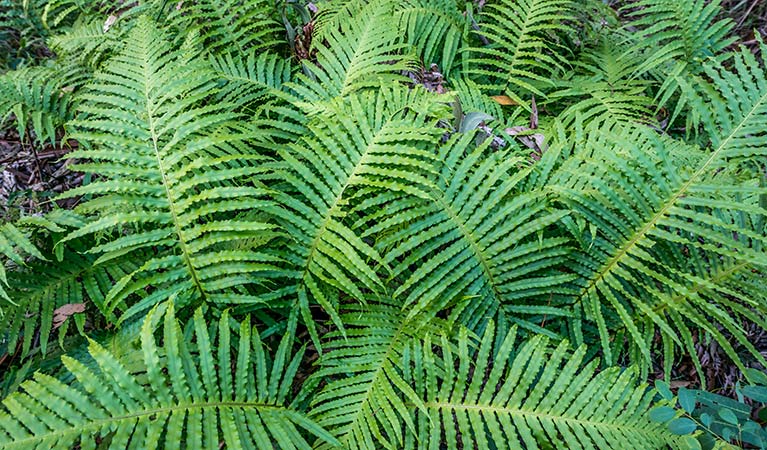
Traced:
<path id="1" fill-rule="evenodd" d="M 488 2 L 481 15 L 484 47 L 470 49 L 469 74 L 485 77 L 487 90 L 509 96 L 520 105 L 523 93 L 543 97 L 540 85 L 562 67 L 561 49 L 552 34 L 568 30 L 569 0 L 499 0 Z"/>

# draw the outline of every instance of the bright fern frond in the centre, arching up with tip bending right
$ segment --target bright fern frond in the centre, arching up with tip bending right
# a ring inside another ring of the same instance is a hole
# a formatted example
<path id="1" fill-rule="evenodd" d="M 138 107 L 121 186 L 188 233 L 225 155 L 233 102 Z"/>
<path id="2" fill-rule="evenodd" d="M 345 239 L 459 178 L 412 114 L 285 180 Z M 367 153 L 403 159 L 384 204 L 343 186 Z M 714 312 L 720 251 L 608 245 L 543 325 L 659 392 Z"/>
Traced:
<path id="1" fill-rule="evenodd" d="M 338 99 L 326 111 L 327 118 L 308 125 L 308 136 L 280 151 L 281 226 L 291 238 L 282 257 L 295 280 L 284 294 L 297 295 L 307 323 L 311 300 L 342 327 L 333 313 L 335 294 L 325 286 L 362 300 L 365 291 L 383 292 L 379 270 L 386 267 L 349 228 L 349 205 L 362 201 L 357 192 L 364 188 L 427 196 L 432 181 L 421 168 L 436 156 L 429 149 L 442 134 L 435 116 L 442 112 L 431 95 L 401 88 Z"/>

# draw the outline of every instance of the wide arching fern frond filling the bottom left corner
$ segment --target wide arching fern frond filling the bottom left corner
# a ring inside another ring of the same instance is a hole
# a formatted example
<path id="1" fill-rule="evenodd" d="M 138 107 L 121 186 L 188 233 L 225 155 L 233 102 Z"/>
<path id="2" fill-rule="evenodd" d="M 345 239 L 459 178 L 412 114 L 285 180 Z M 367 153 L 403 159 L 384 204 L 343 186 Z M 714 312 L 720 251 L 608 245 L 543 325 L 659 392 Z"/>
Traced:
<path id="1" fill-rule="evenodd" d="M 23 383 L 23 393 L 3 401 L 0 448 L 95 448 L 95 439 L 112 448 L 157 448 L 163 442 L 178 446 L 182 437 L 190 448 L 215 448 L 220 442 L 231 448 L 308 448 L 308 435 L 336 443 L 289 406 L 303 353 L 291 354 L 291 333 L 267 355 L 247 320 L 238 337 L 232 336 L 224 313 L 214 340 L 198 310 L 194 341 L 187 341 L 171 305 L 159 346 L 153 336 L 156 315 L 148 314 L 141 331 L 138 373 L 91 341 L 96 369 L 62 358 L 76 384 L 40 373 Z"/>

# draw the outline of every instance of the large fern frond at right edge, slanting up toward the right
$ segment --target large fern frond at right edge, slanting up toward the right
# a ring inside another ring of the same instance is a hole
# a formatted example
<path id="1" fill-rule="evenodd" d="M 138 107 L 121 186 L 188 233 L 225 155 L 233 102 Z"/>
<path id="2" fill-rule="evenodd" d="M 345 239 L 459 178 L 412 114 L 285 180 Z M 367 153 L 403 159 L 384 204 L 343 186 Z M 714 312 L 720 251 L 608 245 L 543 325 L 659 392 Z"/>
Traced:
<path id="1" fill-rule="evenodd" d="M 723 128 L 720 132 L 726 137 L 714 138 L 715 147 L 709 152 L 646 130 L 596 130 L 588 136 L 582 153 L 561 169 L 563 182 L 552 183 L 552 189 L 597 230 L 585 239 L 588 244 L 575 255 L 571 267 L 583 276 L 576 310 L 597 324 L 608 361 L 616 355 L 610 350 L 612 333 L 604 310 L 622 322 L 648 361 L 646 334 L 640 333 L 637 322 L 652 323 L 669 342 L 681 345 L 685 338 L 678 334 L 679 319 L 690 320 L 710 333 L 738 365 L 740 358 L 720 326 L 763 360 L 740 326 L 722 314 L 730 302 L 712 303 L 715 298 L 702 298 L 690 288 L 714 270 L 713 263 L 705 261 L 727 258 L 734 264 L 767 263 L 765 230 L 755 227 L 767 213 L 759 206 L 758 194 L 763 189 L 753 179 L 737 180 L 727 174 L 736 167 L 728 156 L 743 149 L 738 141 L 740 129 L 763 127 L 767 118 L 755 114 L 765 110 L 762 103 L 767 93 L 754 95 L 752 92 L 754 103 L 740 106 L 745 111 L 736 119 L 738 124 Z M 741 139 L 746 144 L 750 137 Z M 690 265 L 691 253 L 704 263 Z M 763 302 L 743 299 L 734 303 L 753 308 L 759 315 L 767 312 Z M 656 310 L 659 305 L 664 306 Z M 661 311 L 668 315 L 659 314 Z M 576 339 L 581 338 L 576 332 Z"/>

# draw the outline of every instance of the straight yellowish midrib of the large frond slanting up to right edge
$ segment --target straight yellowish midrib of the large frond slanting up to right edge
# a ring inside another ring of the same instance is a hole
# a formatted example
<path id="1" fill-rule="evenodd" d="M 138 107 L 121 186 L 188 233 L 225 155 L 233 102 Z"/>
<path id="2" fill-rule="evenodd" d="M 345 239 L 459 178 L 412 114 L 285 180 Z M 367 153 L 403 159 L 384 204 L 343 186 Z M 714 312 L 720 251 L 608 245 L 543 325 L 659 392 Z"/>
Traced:
<path id="1" fill-rule="evenodd" d="M 697 179 L 703 175 L 703 173 L 708 169 L 708 167 L 716 161 L 716 159 L 719 157 L 719 154 L 724 151 L 724 149 L 727 147 L 729 142 L 735 138 L 735 136 L 738 134 L 738 132 L 748 123 L 748 121 L 751 119 L 751 117 L 756 113 L 756 111 L 761 107 L 765 101 L 767 101 L 767 93 L 762 95 L 758 101 L 754 103 L 754 106 L 751 108 L 751 110 L 743 117 L 743 120 L 738 123 L 738 126 L 733 129 L 729 133 L 726 139 L 724 139 L 719 146 L 711 153 L 711 155 L 706 159 L 706 161 L 703 163 L 703 165 L 693 173 L 690 178 L 682 184 L 682 186 L 677 189 L 676 192 L 666 201 L 666 203 L 663 205 L 663 207 L 656 212 L 650 220 L 648 220 L 644 226 L 639 229 L 634 235 L 626 241 L 626 243 L 620 248 L 618 253 L 615 254 L 610 260 L 602 267 L 602 269 L 599 271 L 596 277 L 592 278 L 591 281 L 589 281 L 589 284 L 583 289 L 583 292 L 581 295 L 576 299 L 576 303 L 581 303 L 585 298 L 587 298 L 590 294 L 590 292 L 596 288 L 597 283 L 602 281 L 609 273 L 613 271 L 613 269 L 618 265 L 618 263 L 629 254 L 631 249 L 634 248 L 634 246 L 637 245 L 637 243 L 642 240 L 645 235 L 657 225 L 658 221 L 660 221 L 666 213 L 671 209 L 679 200 L 680 197 L 682 197 L 687 190 L 690 188 L 690 186 L 693 185 L 697 181 Z"/>

